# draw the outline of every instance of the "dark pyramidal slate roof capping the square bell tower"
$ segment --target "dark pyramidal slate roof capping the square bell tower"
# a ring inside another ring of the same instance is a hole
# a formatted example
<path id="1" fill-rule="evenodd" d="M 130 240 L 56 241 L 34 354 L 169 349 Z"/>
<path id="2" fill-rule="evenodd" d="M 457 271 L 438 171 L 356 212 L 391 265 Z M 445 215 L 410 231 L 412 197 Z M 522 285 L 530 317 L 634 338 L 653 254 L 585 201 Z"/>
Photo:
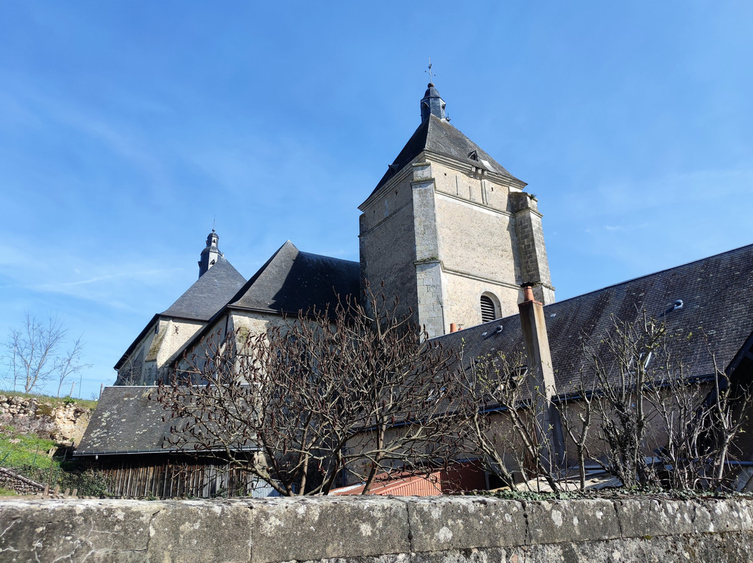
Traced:
<path id="1" fill-rule="evenodd" d="M 410 137 L 410 140 L 403 147 L 403 150 L 400 151 L 398 157 L 392 162 L 392 165 L 389 166 L 389 169 L 385 172 L 385 175 L 383 175 L 370 196 L 377 193 L 380 187 L 386 184 L 392 176 L 400 172 L 404 166 L 410 163 L 422 151 L 444 154 L 444 156 L 452 157 L 460 162 L 489 170 L 489 172 L 496 172 L 499 175 L 520 182 L 504 166 L 490 157 L 486 151 L 463 135 L 455 126 L 450 125 L 449 121 L 431 114 L 428 120 L 421 123 L 416 132 L 413 133 L 413 136 Z M 478 160 L 473 160 L 469 156 L 474 152 Z"/>

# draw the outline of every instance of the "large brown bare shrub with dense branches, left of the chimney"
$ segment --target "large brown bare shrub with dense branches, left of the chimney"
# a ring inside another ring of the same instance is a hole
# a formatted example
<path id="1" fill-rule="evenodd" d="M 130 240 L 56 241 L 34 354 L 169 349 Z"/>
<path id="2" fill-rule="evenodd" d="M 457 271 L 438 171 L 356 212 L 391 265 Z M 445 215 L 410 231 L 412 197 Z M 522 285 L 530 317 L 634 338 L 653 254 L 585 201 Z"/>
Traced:
<path id="1" fill-rule="evenodd" d="M 348 480 L 367 494 L 395 473 L 427 473 L 458 452 L 447 415 L 452 355 L 398 303 L 367 289 L 258 336 L 204 342 L 156 399 L 178 451 L 222 458 L 282 495 L 327 494 Z M 200 382 L 194 385 L 186 382 Z"/>

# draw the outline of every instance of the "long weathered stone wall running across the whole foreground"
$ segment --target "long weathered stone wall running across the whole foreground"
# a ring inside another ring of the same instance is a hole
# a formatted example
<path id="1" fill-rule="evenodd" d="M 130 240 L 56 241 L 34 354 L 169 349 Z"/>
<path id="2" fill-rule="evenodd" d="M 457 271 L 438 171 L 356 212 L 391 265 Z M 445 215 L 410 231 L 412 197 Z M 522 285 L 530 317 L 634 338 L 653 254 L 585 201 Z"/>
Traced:
<path id="1" fill-rule="evenodd" d="M 2 561 L 751 561 L 753 502 L 0 501 Z"/>

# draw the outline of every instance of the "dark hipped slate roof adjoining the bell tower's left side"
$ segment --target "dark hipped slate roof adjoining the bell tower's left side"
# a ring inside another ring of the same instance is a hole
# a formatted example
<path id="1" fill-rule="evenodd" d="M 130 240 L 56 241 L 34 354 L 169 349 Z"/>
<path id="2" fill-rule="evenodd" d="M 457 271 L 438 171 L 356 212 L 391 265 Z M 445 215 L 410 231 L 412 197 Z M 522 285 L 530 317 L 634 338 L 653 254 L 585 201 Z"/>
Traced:
<path id="1" fill-rule="evenodd" d="M 299 251 L 288 241 L 227 304 L 233 309 L 306 312 L 337 303 L 337 297 L 358 297 L 360 265 L 319 254 Z"/>

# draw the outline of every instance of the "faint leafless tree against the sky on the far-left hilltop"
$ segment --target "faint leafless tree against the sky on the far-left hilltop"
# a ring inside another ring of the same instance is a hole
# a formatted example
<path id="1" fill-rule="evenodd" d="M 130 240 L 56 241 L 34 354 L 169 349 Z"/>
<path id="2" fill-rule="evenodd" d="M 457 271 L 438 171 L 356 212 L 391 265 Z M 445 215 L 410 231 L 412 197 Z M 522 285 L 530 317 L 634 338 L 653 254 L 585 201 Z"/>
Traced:
<path id="1" fill-rule="evenodd" d="M 41 321 L 26 312 L 24 323 L 19 328 L 11 328 L 5 347 L 8 350 L 8 380 L 14 391 L 23 385 L 23 391 L 31 393 L 50 380 L 57 379 L 58 396 L 66 378 L 87 367 L 81 364 L 83 342 L 81 338 L 73 342 L 71 348 L 63 350 L 68 329 L 56 315 Z"/>

